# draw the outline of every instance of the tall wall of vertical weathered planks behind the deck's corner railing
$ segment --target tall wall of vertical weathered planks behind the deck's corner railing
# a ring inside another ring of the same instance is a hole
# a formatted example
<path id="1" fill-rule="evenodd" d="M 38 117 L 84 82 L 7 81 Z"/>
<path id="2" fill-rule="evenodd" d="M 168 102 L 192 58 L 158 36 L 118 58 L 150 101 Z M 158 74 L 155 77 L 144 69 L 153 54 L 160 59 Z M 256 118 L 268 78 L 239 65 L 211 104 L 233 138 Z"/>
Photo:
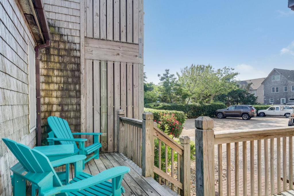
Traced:
<path id="1" fill-rule="evenodd" d="M 83 3 L 81 130 L 102 132 L 101 151 L 116 152 L 117 111 L 137 119 L 143 113 L 143 0 Z"/>

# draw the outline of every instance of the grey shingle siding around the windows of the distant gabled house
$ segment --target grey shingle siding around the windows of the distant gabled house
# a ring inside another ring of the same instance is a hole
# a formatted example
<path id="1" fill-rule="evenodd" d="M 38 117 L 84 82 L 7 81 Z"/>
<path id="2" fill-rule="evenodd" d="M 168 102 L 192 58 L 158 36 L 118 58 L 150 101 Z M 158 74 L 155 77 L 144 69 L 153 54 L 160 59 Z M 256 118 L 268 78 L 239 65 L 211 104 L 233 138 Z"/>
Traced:
<path id="1" fill-rule="evenodd" d="M 288 70 L 288 75 L 292 78 L 292 73 L 294 71 Z M 272 81 L 272 76 L 280 75 L 280 81 Z M 294 74 L 293 74 L 294 76 Z M 291 91 L 291 86 L 294 86 L 294 81 L 288 80 L 283 74 L 274 70 L 268 78 L 263 82 L 264 84 L 264 103 L 265 104 L 281 104 L 281 98 L 286 98 L 286 103 L 293 102 L 289 101 L 289 98 L 294 98 L 294 92 Z M 284 92 L 284 86 L 288 87 L 288 92 Z M 279 87 L 278 93 L 272 93 L 273 87 Z M 270 99 L 274 99 L 274 103 L 270 103 Z"/>

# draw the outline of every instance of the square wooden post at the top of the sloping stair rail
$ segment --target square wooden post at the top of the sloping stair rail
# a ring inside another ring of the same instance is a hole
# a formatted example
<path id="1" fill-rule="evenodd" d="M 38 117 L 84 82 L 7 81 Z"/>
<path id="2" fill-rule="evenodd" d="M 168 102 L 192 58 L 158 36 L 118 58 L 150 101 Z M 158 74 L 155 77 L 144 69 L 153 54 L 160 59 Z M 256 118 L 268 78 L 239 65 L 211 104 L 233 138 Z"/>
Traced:
<path id="1" fill-rule="evenodd" d="M 153 177 L 154 165 L 154 138 L 153 138 L 153 114 L 144 112 L 142 122 L 142 174 L 145 177 Z"/>

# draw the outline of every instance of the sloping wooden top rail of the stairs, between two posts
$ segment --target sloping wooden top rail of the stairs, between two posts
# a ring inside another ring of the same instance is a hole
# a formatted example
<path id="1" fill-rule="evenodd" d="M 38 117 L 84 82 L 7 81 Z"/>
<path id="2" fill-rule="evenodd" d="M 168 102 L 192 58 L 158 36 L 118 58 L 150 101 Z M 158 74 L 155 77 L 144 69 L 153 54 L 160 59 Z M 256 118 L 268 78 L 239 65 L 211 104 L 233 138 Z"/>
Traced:
<path id="1" fill-rule="evenodd" d="M 172 138 L 168 137 L 162 130 L 158 129 L 157 123 L 153 123 L 153 135 L 167 144 L 173 150 L 175 150 L 180 155 L 183 155 L 184 147 L 174 141 Z"/>

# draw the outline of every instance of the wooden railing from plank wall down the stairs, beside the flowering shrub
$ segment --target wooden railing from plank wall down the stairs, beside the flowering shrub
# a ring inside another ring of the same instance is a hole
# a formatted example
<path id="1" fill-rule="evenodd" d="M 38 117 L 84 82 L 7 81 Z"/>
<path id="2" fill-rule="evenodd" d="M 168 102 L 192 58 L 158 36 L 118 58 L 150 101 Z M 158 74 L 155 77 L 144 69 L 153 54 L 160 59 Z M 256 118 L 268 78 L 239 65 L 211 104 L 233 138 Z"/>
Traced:
<path id="1" fill-rule="evenodd" d="M 141 167 L 145 177 L 154 177 L 156 174 L 160 184 L 164 182 L 180 195 L 191 195 L 190 138 L 181 136 L 178 144 L 157 127 L 150 112 L 143 113 L 143 120 L 126 118 L 124 110 L 118 111 L 118 117 L 118 152 Z M 161 168 L 161 156 L 158 156 L 158 167 L 154 164 L 155 142 L 158 143 L 158 155 L 161 155 L 161 150 L 165 150 L 164 165 L 168 168 L 165 171 Z M 161 149 L 161 144 L 164 144 L 164 149 Z M 171 165 L 168 165 L 168 150 L 171 151 Z"/>

